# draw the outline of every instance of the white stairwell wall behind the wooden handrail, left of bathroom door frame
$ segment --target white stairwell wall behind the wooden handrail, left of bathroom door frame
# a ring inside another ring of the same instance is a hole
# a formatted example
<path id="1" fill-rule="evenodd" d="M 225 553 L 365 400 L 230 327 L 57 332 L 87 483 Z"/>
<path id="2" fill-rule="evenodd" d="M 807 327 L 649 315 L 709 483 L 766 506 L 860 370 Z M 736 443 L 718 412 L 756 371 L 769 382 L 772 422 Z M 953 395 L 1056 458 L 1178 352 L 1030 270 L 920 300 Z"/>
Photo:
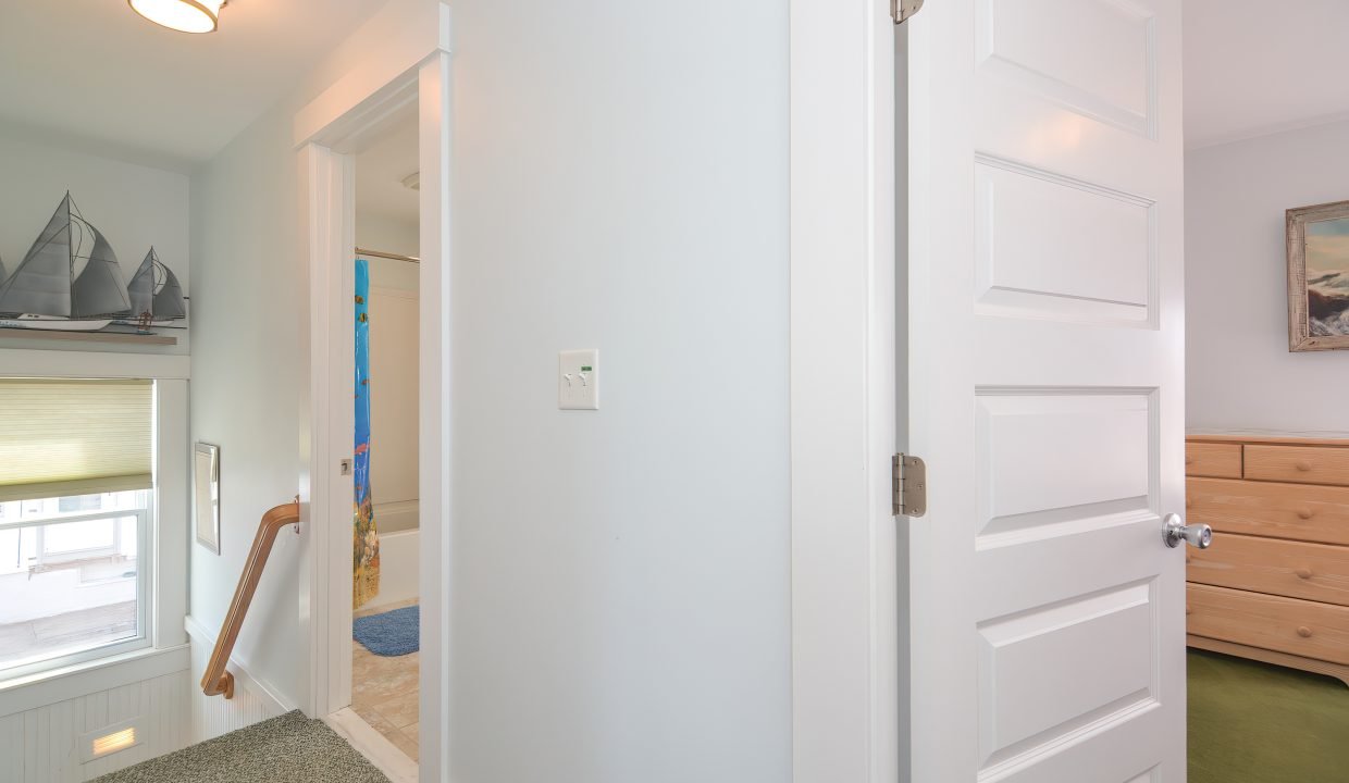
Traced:
<path id="1" fill-rule="evenodd" d="M 268 112 L 192 178 L 192 437 L 220 446 L 220 555 L 192 546 L 192 616 L 224 623 L 258 522 L 299 482 L 304 272 L 290 112 Z M 277 536 L 236 658 L 289 703 L 306 698 L 302 540 Z M 200 674 L 200 672 L 194 672 Z"/>

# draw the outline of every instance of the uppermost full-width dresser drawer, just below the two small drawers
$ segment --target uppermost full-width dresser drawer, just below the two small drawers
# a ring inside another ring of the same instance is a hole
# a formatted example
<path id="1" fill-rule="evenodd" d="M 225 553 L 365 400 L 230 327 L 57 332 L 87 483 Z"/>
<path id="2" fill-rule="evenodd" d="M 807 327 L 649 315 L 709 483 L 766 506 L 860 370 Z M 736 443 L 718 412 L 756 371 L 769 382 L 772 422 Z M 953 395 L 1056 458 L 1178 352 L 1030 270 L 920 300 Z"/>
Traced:
<path id="1" fill-rule="evenodd" d="M 1209 524 L 1219 534 L 1349 546 L 1346 488 L 1190 478 L 1184 504 L 1187 523 Z"/>

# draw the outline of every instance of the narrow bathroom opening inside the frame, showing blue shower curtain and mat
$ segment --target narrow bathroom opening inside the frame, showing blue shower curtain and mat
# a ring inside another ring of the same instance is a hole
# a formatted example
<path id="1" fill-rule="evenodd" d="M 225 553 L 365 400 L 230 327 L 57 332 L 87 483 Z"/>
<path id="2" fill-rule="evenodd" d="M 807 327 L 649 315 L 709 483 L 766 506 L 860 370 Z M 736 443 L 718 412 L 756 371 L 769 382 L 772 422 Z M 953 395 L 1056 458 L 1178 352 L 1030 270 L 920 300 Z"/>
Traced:
<path id="1" fill-rule="evenodd" d="M 417 151 L 410 104 L 355 152 L 352 261 L 351 709 L 411 761 L 420 720 Z"/>

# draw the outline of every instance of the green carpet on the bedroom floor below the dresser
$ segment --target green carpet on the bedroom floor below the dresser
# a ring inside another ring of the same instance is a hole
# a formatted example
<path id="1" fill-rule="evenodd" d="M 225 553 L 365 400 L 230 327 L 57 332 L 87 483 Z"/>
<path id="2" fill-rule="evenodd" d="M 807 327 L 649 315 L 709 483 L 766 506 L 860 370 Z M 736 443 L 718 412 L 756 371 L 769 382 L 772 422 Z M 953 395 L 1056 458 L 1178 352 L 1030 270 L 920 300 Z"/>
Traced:
<path id="1" fill-rule="evenodd" d="M 1190 651 L 1188 783 L 1345 783 L 1349 687 Z"/>

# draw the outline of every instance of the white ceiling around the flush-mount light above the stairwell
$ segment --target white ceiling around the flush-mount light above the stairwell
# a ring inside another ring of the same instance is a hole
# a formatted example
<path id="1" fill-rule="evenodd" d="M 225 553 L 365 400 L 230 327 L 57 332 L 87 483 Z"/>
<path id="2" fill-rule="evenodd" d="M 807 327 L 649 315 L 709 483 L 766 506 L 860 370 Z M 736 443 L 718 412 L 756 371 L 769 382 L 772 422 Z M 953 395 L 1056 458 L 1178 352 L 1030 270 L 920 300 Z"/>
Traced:
<path id="1" fill-rule="evenodd" d="M 368 19 L 374 0 L 229 0 L 188 35 L 125 0 L 0 0 L 0 121 L 173 168 L 219 152 Z"/>

